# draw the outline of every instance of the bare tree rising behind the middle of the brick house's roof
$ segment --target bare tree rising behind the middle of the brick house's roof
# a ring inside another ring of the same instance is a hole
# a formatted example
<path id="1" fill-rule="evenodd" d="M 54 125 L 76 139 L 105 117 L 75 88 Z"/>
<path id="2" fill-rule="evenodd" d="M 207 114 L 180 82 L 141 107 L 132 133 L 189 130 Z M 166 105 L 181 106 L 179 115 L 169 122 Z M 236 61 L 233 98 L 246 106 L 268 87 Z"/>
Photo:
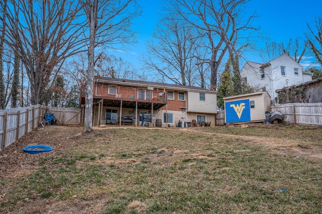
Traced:
<path id="1" fill-rule="evenodd" d="M 147 42 L 149 55 L 143 58 L 145 67 L 175 84 L 191 85 L 196 70 L 193 52 L 197 39 L 191 25 L 176 15 L 165 14 L 156 25 L 152 40 Z"/>

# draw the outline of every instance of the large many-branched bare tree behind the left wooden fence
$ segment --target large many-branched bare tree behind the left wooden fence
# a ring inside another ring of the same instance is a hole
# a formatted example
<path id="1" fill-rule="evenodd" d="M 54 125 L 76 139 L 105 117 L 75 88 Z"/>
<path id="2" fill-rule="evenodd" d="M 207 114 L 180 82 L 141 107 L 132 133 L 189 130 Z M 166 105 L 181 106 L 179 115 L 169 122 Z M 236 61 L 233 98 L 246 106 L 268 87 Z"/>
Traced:
<path id="1" fill-rule="evenodd" d="M 18 46 L 30 82 L 31 104 L 42 103 L 66 58 L 85 51 L 82 19 L 78 19 L 81 7 L 68 0 L 10 2 L 9 44 Z"/>

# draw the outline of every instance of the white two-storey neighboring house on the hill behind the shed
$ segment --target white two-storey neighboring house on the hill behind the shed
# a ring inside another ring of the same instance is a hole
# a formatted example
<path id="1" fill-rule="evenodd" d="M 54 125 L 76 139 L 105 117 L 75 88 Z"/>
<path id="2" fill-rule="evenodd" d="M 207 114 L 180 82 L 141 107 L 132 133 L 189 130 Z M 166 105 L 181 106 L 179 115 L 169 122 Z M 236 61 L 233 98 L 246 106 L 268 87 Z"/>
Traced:
<path id="1" fill-rule="evenodd" d="M 273 99 L 277 96 L 277 89 L 312 80 L 312 73 L 302 69 L 292 57 L 283 54 L 265 64 L 246 62 L 240 70 L 240 76 L 249 85 L 267 91 Z"/>

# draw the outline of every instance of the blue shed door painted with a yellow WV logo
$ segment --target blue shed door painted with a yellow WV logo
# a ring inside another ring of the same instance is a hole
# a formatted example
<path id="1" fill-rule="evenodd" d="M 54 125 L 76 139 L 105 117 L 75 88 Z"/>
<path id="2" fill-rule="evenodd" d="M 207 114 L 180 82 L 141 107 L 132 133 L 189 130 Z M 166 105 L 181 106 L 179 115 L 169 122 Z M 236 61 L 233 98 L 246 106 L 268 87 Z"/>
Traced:
<path id="1" fill-rule="evenodd" d="M 251 121 L 250 100 L 243 99 L 225 103 L 226 123 Z"/>

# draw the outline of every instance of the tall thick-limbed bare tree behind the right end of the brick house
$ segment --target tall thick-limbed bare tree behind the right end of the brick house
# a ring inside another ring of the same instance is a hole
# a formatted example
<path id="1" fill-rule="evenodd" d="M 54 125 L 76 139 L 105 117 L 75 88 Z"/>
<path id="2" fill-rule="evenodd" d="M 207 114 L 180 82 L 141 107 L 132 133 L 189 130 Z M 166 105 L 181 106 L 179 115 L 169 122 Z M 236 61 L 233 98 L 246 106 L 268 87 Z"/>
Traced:
<path id="1" fill-rule="evenodd" d="M 208 39 L 210 58 L 200 60 L 202 63 L 210 64 L 210 89 L 216 90 L 218 68 L 227 50 L 231 57 L 233 53 L 237 53 L 238 47 L 247 47 L 244 43 L 247 38 L 251 38 L 251 35 L 246 36 L 245 32 L 258 30 L 251 25 L 255 14 L 246 20 L 242 19 L 245 5 L 250 0 L 174 0 L 174 2 L 176 12 L 197 29 L 200 37 Z"/>

